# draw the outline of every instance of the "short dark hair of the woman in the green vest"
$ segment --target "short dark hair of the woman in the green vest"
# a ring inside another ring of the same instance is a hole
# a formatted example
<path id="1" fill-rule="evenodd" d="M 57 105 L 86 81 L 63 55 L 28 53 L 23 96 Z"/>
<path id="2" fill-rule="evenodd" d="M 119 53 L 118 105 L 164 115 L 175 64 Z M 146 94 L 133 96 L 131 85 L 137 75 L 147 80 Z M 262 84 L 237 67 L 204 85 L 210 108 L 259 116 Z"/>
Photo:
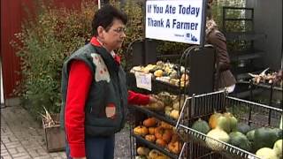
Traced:
<path id="1" fill-rule="evenodd" d="M 113 25 L 114 19 L 120 19 L 126 25 L 127 17 L 122 11 L 111 4 L 105 4 L 100 10 L 96 11 L 94 18 L 92 19 L 92 35 L 97 35 L 97 27 L 101 26 L 106 31 Z"/>

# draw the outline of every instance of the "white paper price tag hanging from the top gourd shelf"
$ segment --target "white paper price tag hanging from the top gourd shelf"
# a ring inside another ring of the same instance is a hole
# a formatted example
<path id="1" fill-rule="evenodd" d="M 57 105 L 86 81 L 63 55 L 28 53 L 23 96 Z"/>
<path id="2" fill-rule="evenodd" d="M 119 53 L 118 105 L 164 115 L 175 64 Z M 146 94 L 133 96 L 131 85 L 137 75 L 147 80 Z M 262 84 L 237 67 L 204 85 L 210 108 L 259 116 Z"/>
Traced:
<path id="1" fill-rule="evenodd" d="M 151 91 L 151 74 L 135 72 L 136 87 Z"/>

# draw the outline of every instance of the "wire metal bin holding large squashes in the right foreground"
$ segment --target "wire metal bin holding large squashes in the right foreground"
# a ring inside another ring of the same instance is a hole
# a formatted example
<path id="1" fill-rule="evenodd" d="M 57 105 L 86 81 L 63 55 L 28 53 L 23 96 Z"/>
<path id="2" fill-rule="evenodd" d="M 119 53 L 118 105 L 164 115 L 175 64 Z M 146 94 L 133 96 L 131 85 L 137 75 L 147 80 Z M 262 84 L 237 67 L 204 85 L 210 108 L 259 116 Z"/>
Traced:
<path id="1" fill-rule="evenodd" d="M 282 109 L 228 96 L 225 91 L 205 95 L 193 95 L 187 98 L 184 104 L 184 107 L 180 111 L 180 118 L 177 121 L 176 128 L 177 130 L 185 130 L 186 132 L 184 138 L 187 138 L 187 147 L 192 152 L 188 158 L 205 158 L 207 156 L 215 158 L 216 155 L 218 155 L 216 158 L 259 158 L 253 153 L 234 147 L 221 140 L 214 140 L 206 134 L 190 128 L 200 117 L 205 120 L 215 110 L 218 112 L 228 110 L 233 113 L 238 121 L 250 126 L 277 127 L 279 117 L 283 113 Z M 218 145 L 218 147 L 212 148 L 206 144 L 206 140 L 212 140 L 216 143 L 214 145 Z"/>

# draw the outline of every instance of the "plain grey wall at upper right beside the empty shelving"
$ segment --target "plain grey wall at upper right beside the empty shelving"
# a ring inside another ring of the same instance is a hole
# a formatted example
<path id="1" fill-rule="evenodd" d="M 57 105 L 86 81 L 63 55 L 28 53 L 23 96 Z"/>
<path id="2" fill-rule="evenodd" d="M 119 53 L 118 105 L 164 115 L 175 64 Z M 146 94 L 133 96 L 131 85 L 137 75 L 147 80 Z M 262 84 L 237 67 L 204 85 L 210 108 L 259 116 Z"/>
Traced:
<path id="1" fill-rule="evenodd" d="M 255 43 L 256 48 L 265 51 L 257 64 L 279 70 L 282 61 L 282 0 L 247 0 L 247 7 L 255 9 L 255 31 L 267 35 L 265 40 Z"/>

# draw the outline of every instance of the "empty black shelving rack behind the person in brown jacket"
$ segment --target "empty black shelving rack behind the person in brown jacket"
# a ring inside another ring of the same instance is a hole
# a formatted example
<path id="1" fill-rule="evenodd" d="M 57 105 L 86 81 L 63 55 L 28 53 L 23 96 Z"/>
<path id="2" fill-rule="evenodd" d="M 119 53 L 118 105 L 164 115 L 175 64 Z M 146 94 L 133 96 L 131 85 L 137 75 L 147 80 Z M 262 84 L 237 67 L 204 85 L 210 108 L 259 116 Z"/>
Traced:
<path id="1" fill-rule="evenodd" d="M 231 15 L 231 12 L 241 12 L 241 17 L 235 17 Z M 264 54 L 263 50 L 255 48 L 254 42 L 263 40 L 266 38 L 266 34 L 255 32 L 253 8 L 224 6 L 222 14 L 222 27 L 223 32 L 226 34 L 227 42 L 247 42 L 245 49 L 229 50 L 231 62 L 236 63 L 232 69 L 233 74 L 237 81 L 249 79 L 248 72 L 259 72 L 261 70 L 261 68 L 254 66 L 254 61 Z M 238 30 L 229 30 L 229 24 L 245 25 L 245 27 L 242 27 L 241 30 L 239 28 Z"/>

